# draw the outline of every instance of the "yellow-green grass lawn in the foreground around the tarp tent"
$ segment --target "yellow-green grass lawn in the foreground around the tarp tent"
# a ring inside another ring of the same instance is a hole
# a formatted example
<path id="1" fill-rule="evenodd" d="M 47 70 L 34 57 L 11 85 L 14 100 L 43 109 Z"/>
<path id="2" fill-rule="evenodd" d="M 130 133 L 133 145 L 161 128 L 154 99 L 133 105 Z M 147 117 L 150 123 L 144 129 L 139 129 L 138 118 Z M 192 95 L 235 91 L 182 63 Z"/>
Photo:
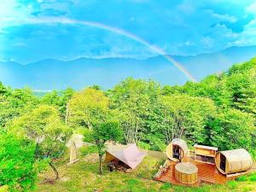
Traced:
<path id="1" fill-rule="evenodd" d="M 150 191 L 175 191 L 175 192 L 225 192 L 225 191 L 255 191 L 256 173 L 250 176 L 239 177 L 236 181 L 231 181 L 224 185 L 206 184 L 200 188 L 181 187 L 169 183 L 154 181 L 152 177 L 157 172 L 159 166 L 164 162 L 164 156 L 159 152 L 149 152 L 143 163 L 131 173 L 108 172 L 104 167 L 102 176 L 97 174 L 98 161 L 96 154 L 87 154 L 77 163 L 67 166 L 58 166 L 61 179 L 56 183 L 44 182 L 45 178 L 54 177 L 51 170 L 39 176 L 39 192 L 64 192 L 64 191 L 124 191 L 124 192 L 150 192 Z"/>

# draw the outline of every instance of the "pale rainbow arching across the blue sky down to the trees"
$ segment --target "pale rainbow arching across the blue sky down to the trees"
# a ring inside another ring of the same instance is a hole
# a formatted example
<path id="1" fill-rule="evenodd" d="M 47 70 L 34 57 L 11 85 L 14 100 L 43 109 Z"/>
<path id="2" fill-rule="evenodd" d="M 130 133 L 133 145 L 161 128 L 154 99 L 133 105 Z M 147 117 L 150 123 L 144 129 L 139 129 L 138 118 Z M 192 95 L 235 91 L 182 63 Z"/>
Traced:
<path id="1" fill-rule="evenodd" d="M 183 67 L 183 65 L 174 60 L 171 56 L 167 55 L 165 50 L 160 49 L 159 47 L 149 44 L 146 40 L 144 40 L 143 38 L 137 37 L 137 35 L 131 33 L 131 32 L 127 32 L 123 29 L 114 27 L 114 26 L 108 26 L 99 22 L 94 22 L 94 21 L 86 21 L 86 20 L 71 20 L 71 19 L 67 19 L 67 18 L 55 18 L 55 17 L 44 17 L 44 18 L 30 18 L 26 21 L 24 20 L 20 20 L 20 23 L 29 23 L 29 24 L 38 24 L 38 23 L 45 23 L 45 24 L 49 24 L 49 23 L 61 23 L 61 24 L 67 24 L 67 25 L 84 25 L 84 26 L 94 26 L 96 28 L 100 28 L 103 30 L 107 30 L 109 32 L 114 32 L 120 35 L 123 35 L 127 38 L 131 38 L 135 41 L 137 41 L 140 44 L 145 45 L 146 47 L 148 47 L 148 49 L 151 49 L 153 51 L 155 51 L 156 53 L 158 53 L 159 55 L 162 55 L 166 58 L 167 61 L 172 62 L 172 64 L 174 66 L 176 66 L 189 80 L 196 82 L 195 78 L 192 76 L 191 73 L 189 73 L 189 71 Z"/>

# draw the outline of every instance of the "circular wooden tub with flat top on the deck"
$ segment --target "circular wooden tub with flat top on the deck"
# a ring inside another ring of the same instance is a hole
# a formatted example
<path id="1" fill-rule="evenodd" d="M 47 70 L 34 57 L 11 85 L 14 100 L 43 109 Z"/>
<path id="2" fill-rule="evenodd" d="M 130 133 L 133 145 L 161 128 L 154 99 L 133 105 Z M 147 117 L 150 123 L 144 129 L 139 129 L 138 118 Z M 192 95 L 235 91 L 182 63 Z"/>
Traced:
<path id="1" fill-rule="evenodd" d="M 197 183 L 197 166 L 189 162 L 178 163 L 175 166 L 175 178 L 183 184 Z"/>

